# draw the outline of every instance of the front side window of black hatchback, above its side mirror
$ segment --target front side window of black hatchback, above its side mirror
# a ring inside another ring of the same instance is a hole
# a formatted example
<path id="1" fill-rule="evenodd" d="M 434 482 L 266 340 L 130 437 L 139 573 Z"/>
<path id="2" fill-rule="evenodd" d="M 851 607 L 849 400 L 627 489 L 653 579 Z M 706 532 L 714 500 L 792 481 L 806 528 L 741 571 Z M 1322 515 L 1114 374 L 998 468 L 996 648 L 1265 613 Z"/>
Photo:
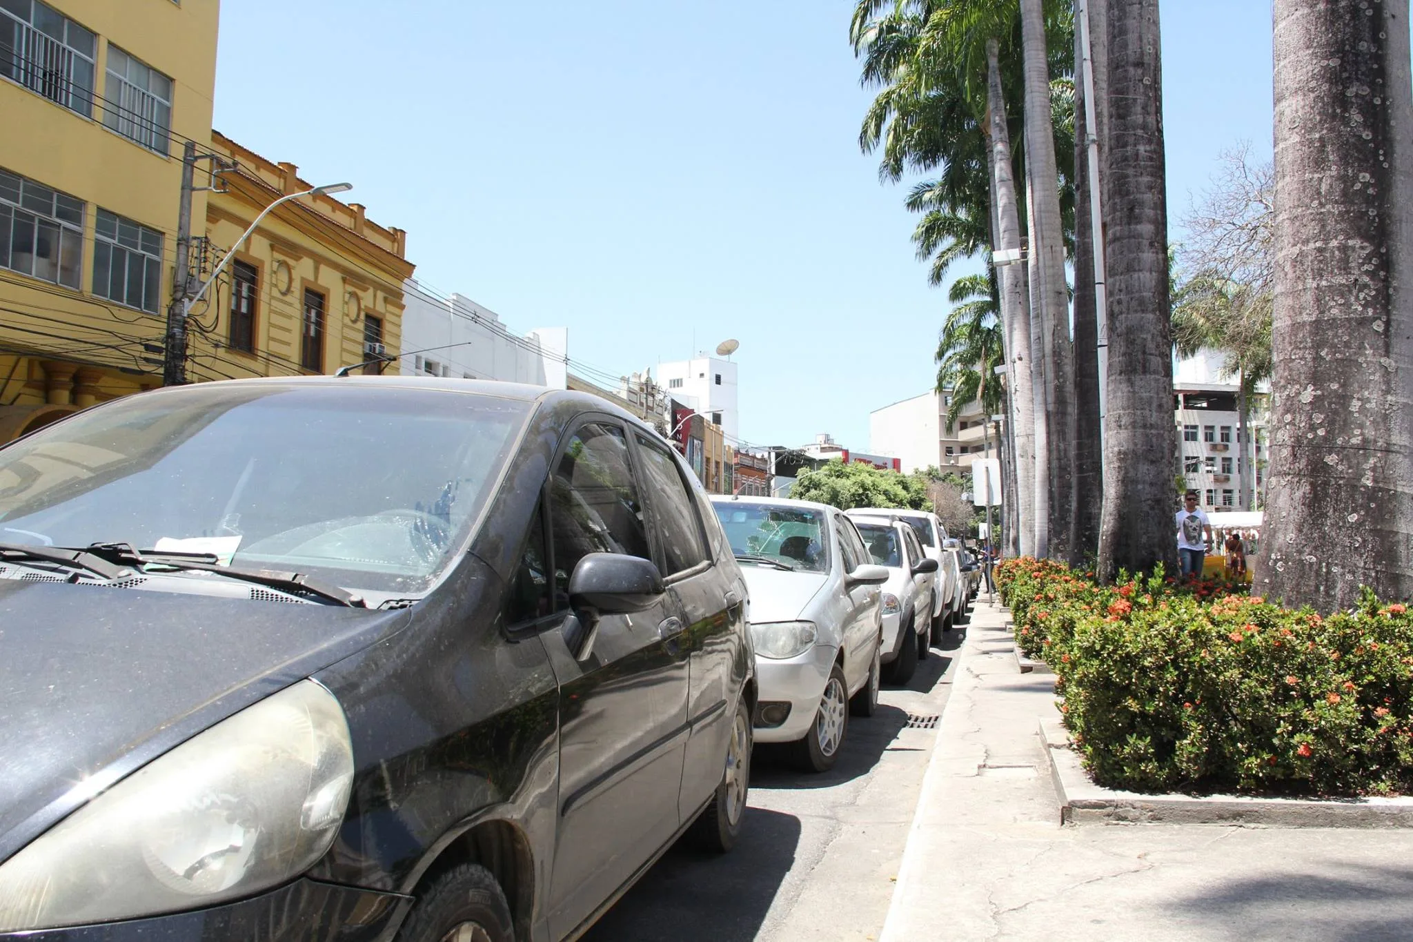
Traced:
<path id="1" fill-rule="evenodd" d="M 557 609 L 568 607 L 564 589 L 591 552 L 653 558 L 630 469 L 627 441 L 616 425 L 584 425 L 564 449 L 550 479 Z"/>

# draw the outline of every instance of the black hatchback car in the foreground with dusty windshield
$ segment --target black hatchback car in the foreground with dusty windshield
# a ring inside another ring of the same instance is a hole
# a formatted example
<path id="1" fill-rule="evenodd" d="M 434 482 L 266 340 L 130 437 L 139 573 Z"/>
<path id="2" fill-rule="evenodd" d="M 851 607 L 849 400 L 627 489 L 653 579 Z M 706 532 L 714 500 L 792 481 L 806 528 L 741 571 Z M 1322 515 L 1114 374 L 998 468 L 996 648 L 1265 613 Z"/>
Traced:
<path id="1" fill-rule="evenodd" d="M 735 843 L 745 609 L 687 466 L 588 395 L 243 380 L 40 429 L 0 449 L 0 938 L 574 938 Z"/>

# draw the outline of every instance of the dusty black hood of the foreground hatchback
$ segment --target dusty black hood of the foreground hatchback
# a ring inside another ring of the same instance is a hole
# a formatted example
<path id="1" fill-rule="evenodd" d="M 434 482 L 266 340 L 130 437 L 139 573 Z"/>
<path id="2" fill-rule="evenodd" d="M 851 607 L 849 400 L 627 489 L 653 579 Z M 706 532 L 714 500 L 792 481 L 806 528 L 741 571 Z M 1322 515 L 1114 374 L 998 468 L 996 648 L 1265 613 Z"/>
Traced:
<path id="1" fill-rule="evenodd" d="M 0 860 L 95 787 L 408 616 L 0 580 Z"/>

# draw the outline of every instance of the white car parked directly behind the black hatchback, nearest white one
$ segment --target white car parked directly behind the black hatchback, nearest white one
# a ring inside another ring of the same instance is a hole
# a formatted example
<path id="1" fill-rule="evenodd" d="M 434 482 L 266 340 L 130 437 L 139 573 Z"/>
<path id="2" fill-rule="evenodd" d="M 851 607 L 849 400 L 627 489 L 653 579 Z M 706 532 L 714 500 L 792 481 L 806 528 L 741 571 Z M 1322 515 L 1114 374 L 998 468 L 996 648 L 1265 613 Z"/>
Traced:
<path id="1" fill-rule="evenodd" d="M 879 586 L 889 571 L 873 565 L 859 531 L 827 504 L 711 500 L 750 589 L 756 741 L 793 743 L 800 767 L 825 771 L 839 757 L 851 709 L 877 709 Z"/>

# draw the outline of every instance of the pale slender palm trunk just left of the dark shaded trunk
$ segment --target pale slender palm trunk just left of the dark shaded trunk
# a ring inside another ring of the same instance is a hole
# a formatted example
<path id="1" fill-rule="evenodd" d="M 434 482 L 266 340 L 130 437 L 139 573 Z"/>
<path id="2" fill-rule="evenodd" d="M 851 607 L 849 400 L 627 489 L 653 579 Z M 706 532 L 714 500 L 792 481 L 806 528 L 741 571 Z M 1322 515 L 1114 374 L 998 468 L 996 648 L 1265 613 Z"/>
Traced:
<path id="1" fill-rule="evenodd" d="M 1050 100 L 1050 65 L 1041 0 L 1020 0 L 1020 31 L 1026 75 L 1026 175 L 1031 192 L 1030 256 L 1040 285 L 1031 316 L 1041 323 L 1046 376 L 1046 460 L 1048 483 L 1048 554 L 1068 559 L 1075 515 L 1075 386 L 1070 345 L 1070 291 L 1064 267 L 1064 223 L 1060 217 L 1060 171 Z"/>

